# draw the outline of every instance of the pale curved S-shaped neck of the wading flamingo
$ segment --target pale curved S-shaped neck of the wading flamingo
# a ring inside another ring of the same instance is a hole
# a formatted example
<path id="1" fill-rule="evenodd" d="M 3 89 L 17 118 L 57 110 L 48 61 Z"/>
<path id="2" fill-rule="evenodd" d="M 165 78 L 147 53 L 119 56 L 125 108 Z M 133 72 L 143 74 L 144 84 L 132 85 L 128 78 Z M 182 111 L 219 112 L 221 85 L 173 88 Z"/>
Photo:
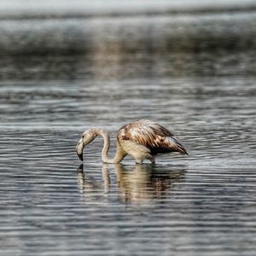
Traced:
<path id="1" fill-rule="evenodd" d="M 97 133 L 97 135 L 102 136 L 103 141 L 104 141 L 104 146 L 102 148 L 102 161 L 104 163 L 108 163 L 108 164 L 118 164 L 121 160 L 123 160 L 126 153 L 120 147 L 118 142 L 116 143 L 117 148 L 116 148 L 116 153 L 115 153 L 114 157 L 112 159 L 108 158 L 108 150 L 109 150 L 109 147 L 110 147 L 110 138 L 109 138 L 108 131 L 97 129 L 96 133 Z"/>

